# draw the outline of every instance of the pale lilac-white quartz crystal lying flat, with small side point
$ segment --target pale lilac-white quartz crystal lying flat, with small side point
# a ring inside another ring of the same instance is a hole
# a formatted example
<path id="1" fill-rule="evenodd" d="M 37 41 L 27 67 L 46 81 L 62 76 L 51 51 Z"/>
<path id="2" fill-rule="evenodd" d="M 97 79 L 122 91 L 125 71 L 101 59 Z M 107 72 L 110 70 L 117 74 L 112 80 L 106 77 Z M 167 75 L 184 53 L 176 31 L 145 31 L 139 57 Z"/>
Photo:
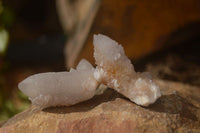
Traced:
<path id="1" fill-rule="evenodd" d="M 19 83 L 18 87 L 34 105 L 69 106 L 94 96 L 99 83 L 93 73 L 92 65 L 82 60 L 77 70 L 35 74 Z"/>

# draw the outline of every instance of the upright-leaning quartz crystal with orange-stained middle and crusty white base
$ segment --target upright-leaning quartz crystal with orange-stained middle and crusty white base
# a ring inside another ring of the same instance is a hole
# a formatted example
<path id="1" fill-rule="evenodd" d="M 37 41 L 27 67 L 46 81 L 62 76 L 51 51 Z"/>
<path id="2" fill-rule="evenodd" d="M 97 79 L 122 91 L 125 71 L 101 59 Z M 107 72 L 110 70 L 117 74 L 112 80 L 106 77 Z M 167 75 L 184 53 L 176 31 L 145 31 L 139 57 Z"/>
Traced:
<path id="1" fill-rule="evenodd" d="M 136 73 L 124 49 L 104 35 L 94 35 L 94 57 L 97 68 L 94 77 L 128 97 L 138 105 L 148 106 L 160 96 L 159 87 L 147 73 Z"/>

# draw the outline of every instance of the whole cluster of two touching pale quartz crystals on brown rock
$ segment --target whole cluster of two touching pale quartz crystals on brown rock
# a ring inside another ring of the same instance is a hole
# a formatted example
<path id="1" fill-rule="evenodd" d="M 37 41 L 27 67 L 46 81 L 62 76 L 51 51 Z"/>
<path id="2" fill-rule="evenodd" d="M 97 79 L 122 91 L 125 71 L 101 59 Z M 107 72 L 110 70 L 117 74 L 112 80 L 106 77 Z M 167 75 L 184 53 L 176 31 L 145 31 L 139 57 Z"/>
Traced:
<path id="1" fill-rule="evenodd" d="M 42 107 L 70 106 L 92 98 L 102 83 L 138 105 L 148 106 L 160 96 L 159 87 L 149 73 L 137 73 L 124 49 L 104 35 L 94 35 L 97 67 L 81 60 L 69 72 L 35 74 L 19 83 L 19 89 L 32 104 Z"/>

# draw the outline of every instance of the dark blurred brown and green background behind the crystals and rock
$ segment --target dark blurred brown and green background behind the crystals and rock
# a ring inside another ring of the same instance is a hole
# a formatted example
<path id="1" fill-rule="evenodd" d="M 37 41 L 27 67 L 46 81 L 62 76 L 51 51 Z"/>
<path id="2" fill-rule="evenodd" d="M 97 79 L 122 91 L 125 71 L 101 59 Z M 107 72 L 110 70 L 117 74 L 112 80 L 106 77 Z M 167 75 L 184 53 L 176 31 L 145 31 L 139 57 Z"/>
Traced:
<path id="1" fill-rule="evenodd" d="M 98 33 L 122 44 L 136 71 L 200 86 L 200 0 L 2 0 L 0 121 L 29 107 L 24 78 L 94 65 Z"/>

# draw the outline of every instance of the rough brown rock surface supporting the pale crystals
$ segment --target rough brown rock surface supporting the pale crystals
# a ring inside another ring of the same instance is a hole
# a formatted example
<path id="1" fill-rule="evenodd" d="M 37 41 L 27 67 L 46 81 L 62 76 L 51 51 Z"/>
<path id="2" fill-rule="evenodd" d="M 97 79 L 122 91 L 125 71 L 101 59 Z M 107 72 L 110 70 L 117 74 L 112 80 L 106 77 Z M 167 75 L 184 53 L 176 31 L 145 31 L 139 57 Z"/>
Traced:
<path id="1" fill-rule="evenodd" d="M 71 107 L 32 106 L 0 133 L 200 132 L 200 88 L 157 80 L 163 96 L 141 107 L 113 90 Z"/>

